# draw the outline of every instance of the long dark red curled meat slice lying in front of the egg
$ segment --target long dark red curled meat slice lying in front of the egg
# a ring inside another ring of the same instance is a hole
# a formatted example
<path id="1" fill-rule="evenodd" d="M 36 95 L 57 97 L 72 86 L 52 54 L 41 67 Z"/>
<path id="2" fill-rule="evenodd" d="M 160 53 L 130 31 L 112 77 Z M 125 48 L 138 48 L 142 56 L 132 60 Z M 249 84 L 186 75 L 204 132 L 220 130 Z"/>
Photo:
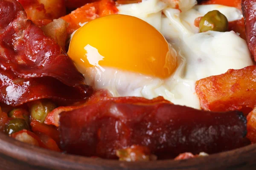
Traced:
<path id="1" fill-rule="evenodd" d="M 134 102 L 132 102 L 134 100 Z M 162 102 L 160 101 L 162 100 Z M 116 151 L 145 146 L 158 158 L 218 153 L 248 144 L 241 112 L 209 112 L 137 97 L 104 97 L 60 114 L 61 149 L 116 159 Z"/>

